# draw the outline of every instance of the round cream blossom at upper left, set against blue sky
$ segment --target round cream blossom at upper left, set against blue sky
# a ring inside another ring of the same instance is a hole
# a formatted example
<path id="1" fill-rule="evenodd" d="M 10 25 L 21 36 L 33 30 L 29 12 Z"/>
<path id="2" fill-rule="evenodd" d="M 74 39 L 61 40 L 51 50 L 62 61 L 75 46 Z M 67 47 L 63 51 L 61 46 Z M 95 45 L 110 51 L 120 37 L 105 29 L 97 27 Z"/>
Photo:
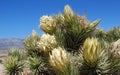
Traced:
<path id="1" fill-rule="evenodd" d="M 40 28 L 49 34 L 52 34 L 55 30 L 56 21 L 51 16 L 42 16 L 40 19 Z"/>

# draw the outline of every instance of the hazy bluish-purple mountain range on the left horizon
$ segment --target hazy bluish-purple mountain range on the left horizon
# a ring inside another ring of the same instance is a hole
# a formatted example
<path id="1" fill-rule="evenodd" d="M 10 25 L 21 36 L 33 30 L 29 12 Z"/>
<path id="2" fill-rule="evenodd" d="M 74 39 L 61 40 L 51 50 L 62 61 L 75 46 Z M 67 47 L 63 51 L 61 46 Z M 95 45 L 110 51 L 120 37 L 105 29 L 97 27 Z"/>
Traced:
<path id="1" fill-rule="evenodd" d="M 23 39 L 19 38 L 0 39 L 0 50 L 8 50 L 10 48 L 24 49 Z"/>

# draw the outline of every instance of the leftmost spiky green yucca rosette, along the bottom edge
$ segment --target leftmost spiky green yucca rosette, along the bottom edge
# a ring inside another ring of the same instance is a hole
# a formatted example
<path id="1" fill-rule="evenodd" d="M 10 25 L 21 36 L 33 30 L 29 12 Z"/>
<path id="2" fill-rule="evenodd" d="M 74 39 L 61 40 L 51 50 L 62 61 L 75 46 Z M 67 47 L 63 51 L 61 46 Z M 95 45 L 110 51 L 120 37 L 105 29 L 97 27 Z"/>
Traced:
<path id="1" fill-rule="evenodd" d="M 6 75 L 22 75 L 24 64 L 13 56 L 8 56 L 4 62 Z"/>

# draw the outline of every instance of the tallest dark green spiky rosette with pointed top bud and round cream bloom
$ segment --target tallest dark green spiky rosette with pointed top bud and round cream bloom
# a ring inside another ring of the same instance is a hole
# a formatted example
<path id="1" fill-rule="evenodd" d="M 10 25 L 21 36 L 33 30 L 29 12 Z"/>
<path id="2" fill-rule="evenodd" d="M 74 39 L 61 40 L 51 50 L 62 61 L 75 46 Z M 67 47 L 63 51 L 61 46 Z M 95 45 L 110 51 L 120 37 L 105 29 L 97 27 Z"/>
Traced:
<path id="1" fill-rule="evenodd" d="M 55 35 L 59 46 L 68 51 L 78 51 L 86 38 L 94 33 L 99 20 L 89 22 L 86 15 L 74 14 L 66 5 L 63 14 L 55 16 L 43 16 L 40 19 L 40 28 L 48 34 Z"/>

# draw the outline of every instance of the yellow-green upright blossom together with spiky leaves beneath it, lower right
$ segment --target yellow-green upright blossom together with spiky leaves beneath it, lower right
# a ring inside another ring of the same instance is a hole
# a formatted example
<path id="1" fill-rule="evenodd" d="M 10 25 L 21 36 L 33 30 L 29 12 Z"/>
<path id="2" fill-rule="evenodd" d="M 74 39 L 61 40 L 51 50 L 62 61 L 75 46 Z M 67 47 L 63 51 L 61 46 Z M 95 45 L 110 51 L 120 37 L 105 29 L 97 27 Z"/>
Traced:
<path id="1" fill-rule="evenodd" d="M 80 74 L 110 75 L 119 69 L 120 60 L 112 56 L 109 48 L 102 49 L 98 39 L 86 39 L 81 53 L 83 61 L 79 62 L 81 64 L 79 68 Z"/>

